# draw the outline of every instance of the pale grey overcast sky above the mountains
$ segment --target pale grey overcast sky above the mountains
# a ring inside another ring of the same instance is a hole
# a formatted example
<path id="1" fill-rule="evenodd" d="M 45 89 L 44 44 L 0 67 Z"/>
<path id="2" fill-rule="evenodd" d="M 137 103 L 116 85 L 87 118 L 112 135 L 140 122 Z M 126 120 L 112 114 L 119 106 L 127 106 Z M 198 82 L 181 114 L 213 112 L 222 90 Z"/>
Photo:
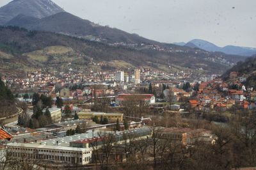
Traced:
<path id="1" fill-rule="evenodd" d="M 159 42 L 256 47 L 256 0 L 52 0 L 102 26 Z M 0 0 L 0 6 L 10 0 Z"/>

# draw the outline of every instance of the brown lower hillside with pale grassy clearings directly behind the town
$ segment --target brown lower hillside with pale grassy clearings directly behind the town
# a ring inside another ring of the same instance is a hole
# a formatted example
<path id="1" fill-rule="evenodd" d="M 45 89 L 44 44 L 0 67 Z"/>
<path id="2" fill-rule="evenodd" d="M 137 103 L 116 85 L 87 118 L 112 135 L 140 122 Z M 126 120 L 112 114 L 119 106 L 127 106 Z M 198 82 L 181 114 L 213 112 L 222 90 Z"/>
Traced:
<path id="1" fill-rule="evenodd" d="M 110 68 L 125 64 L 149 66 L 168 72 L 171 65 L 221 73 L 230 66 L 228 63 L 241 60 L 239 56 L 205 52 L 189 47 L 170 47 L 172 51 L 168 49 L 168 45 L 166 50 L 114 47 L 106 43 L 44 31 L 27 31 L 12 26 L 0 27 L 0 37 L 0 71 L 13 76 L 35 68 L 65 70 L 68 63 L 72 63 L 72 67 L 77 70 L 84 70 L 92 67 L 92 59 L 96 63 L 104 62 L 105 67 Z M 223 63 L 223 60 L 227 62 Z M 98 68 L 101 69 L 99 66 Z"/>

